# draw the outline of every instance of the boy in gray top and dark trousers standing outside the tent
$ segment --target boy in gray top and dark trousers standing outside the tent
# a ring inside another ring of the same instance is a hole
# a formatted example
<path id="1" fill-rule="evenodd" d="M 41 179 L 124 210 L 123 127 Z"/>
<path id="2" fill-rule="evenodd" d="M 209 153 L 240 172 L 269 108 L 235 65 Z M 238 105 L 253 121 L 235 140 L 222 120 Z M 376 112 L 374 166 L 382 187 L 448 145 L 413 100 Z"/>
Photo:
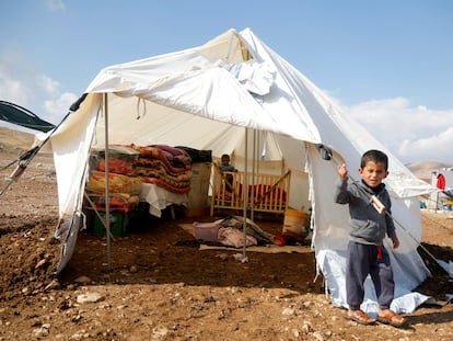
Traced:
<path id="1" fill-rule="evenodd" d="M 390 309 L 395 284 L 390 257 L 383 246 L 385 235 L 392 239 L 395 249 L 399 246 L 391 216 L 391 198 L 382 182 L 388 175 L 387 169 L 388 158 L 380 150 L 363 154 L 359 168 L 360 182 L 348 183 L 348 170 L 345 164 L 339 166 L 335 201 L 349 204 L 350 232 L 346 259 L 348 318 L 361 325 L 374 323 L 375 320 L 360 309 L 364 297 L 363 284 L 370 274 L 378 296 L 378 320 L 402 327 L 406 319 Z M 371 201 L 373 195 L 383 206 L 374 207 Z"/>

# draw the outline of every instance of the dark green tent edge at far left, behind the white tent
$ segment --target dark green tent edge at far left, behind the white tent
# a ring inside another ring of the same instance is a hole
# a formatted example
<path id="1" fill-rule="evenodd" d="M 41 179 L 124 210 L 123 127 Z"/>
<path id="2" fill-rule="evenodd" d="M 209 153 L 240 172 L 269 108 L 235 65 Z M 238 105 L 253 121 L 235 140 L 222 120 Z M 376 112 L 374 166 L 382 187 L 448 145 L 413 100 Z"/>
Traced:
<path id="1" fill-rule="evenodd" d="M 40 120 L 30 110 L 5 101 L 0 101 L 0 120 L 43 133 L 55 128 L 55 125 Z"/>

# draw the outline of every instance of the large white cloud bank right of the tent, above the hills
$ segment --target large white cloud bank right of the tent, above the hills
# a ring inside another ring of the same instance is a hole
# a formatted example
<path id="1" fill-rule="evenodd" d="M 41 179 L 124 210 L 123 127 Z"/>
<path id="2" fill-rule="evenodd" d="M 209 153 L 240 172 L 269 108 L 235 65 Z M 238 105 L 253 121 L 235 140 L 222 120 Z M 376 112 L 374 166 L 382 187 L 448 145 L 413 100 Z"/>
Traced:
<path id="1" fill-rule="evenodd" d="M 404 163 L 421 160 L 453 162 L 453 110 L 410 107 L 395 98 L 346 109 Z"/>

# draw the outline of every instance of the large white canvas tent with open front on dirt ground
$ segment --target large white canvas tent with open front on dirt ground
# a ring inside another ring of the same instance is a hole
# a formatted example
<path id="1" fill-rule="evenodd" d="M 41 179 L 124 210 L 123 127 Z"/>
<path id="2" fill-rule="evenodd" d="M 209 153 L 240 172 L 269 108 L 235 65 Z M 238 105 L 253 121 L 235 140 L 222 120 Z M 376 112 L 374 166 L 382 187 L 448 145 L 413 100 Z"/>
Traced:
<path id="1" fill-rule="evenodd" d="M 429 275 L 414 237 L 421 236 L 417 197 L 432 187 L 251 30 L 230 30 L 195 48 L 107 67 L 92 81 L 80 107 L 50 138 L 61 218 L 56 236 L 66 239 L 57 272 L 71 257 L 81 226 L 89 149 L 105 146 L 106 132 L 111 144 L 188 146 L 210 149 L 217 157 L 234 154 L 239 168 L 258 155 L 290 169 L 290 206 L 313 209 L 313 246 L 336 306 L 346 306 L 348 212 L 333 200 L 336 164 L 323 160 L 315 144 L 332 147 L 351 174 L 362 152 L 384 150 L 390 156 L 386 184 L 393 214 L 410 231 L 407 236 L 398 229 L 402 248 L 392 257 L 396 294 L 404 296 L 395 308 L 411 310 L 423 299 L 410 294 Z M 245 136 L 257 136 L 254 156 L 245 155 Z M 367 311 L 375 309 L 370 285 Z"/>

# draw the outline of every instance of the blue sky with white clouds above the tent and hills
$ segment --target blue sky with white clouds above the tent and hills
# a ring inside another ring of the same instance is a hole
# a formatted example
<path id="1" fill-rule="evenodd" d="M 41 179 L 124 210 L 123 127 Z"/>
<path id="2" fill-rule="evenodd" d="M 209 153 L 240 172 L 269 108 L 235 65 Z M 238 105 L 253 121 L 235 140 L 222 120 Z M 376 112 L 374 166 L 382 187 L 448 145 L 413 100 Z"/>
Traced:
<path id="1" fill-rule="evenodd" d="M 453 163 L 453 1 L 2 0 L 0 12 L 0 100 L 54 124 L 107 66 L 249 27 L 404 163 Z"/>

